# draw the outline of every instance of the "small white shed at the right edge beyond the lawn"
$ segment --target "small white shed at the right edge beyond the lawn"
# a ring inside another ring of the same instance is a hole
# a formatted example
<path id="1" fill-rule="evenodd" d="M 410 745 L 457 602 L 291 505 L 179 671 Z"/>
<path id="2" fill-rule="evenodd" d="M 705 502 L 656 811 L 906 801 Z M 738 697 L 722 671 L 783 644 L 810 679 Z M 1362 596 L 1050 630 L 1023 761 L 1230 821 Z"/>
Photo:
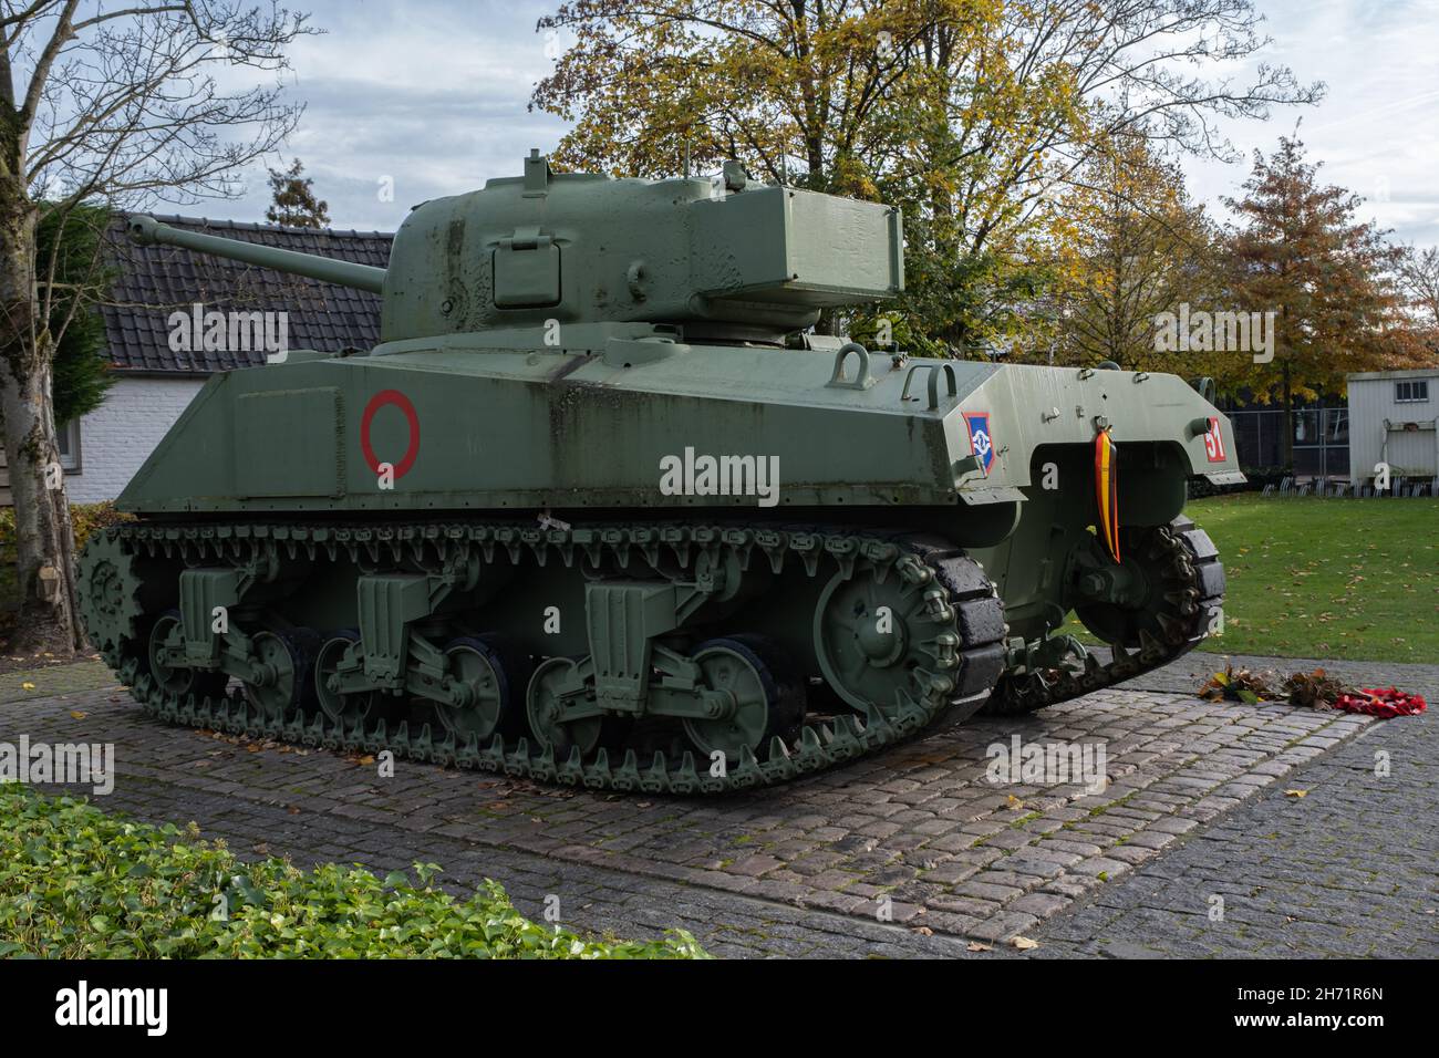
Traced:
<path id="1" fill-rule="evenodd" d="M 1350 481 L 1439 475 L 1439 367 L 1348 376 Z"/>

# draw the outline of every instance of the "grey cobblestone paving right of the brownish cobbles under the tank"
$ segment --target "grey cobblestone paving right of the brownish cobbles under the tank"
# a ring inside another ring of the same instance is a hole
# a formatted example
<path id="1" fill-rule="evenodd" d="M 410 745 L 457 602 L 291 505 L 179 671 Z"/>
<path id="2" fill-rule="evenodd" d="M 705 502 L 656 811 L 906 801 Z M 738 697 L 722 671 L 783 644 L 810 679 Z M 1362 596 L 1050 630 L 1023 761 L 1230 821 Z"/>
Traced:
<path id="1" fill-rule="evenodd" d="M 1367 727 L 1194 831 L 1046 921 L 1030 954 L 1439 956 L 1439 668 L 1393 668 L 1379 682 L 1425 694 L 1430 711 Z"/>

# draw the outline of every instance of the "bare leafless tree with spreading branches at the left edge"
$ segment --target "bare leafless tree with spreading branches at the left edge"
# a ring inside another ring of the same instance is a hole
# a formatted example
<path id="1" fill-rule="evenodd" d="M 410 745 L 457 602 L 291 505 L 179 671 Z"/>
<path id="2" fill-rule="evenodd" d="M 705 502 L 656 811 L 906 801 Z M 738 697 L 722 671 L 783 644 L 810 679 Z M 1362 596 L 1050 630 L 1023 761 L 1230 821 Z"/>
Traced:
<path id="1" fill-rule="evenodd" d="M 50 406 L 60 286 L 37 219 L 237 194 L 299 118 L 281 72 L 305 22 L 248 0 L 0 0 L 0 415 L 32 633 L 82 645 Z"/>

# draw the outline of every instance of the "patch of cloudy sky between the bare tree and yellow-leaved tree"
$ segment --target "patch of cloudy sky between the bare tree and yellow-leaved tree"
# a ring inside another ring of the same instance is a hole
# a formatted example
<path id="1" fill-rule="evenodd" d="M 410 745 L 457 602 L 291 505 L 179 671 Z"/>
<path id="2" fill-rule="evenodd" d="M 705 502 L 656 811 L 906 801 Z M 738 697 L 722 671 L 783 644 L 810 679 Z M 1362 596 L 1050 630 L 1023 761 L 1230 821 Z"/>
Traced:
<path id="1" fill-rule="evenodd" d="M 518 176 L 531 147 L 553 148 L 564 124 L 527 109 L 553 62 L 535 22 L 550 3 L 312 0 L 327 30 L 291 50 L 289 95 L 305 104 L 285 160 L 305 163 L 337 227 L 394 230 L 410 206 Z M 278 158 L 271 164 L 278 164 Z M 394 180 L 381 202 L 378 181 Z M 203 212 L 262 220 L 263 166 L 237 202 Z M 200 212 L 199 207 L 178 207 Z"/>

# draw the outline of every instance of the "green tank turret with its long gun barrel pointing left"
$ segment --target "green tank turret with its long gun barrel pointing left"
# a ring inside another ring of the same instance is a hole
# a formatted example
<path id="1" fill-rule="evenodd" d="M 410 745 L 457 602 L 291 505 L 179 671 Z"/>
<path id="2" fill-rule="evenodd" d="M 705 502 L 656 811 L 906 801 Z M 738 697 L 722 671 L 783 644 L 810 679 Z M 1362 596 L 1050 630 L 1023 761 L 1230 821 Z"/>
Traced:
<path id="1" fill-rule="evenodd" d="M 899 210 L 725 178 L 612 180 L 555 174 L 532 153 L 524 176 L 416 206 L 389 271 L 150 217 L 130 230 L 383 295 L 381 338 L 496 328 L 649 322 L 691 338 L 761 338 L 812 325 L 820 309 L 904 288 Z"/>

